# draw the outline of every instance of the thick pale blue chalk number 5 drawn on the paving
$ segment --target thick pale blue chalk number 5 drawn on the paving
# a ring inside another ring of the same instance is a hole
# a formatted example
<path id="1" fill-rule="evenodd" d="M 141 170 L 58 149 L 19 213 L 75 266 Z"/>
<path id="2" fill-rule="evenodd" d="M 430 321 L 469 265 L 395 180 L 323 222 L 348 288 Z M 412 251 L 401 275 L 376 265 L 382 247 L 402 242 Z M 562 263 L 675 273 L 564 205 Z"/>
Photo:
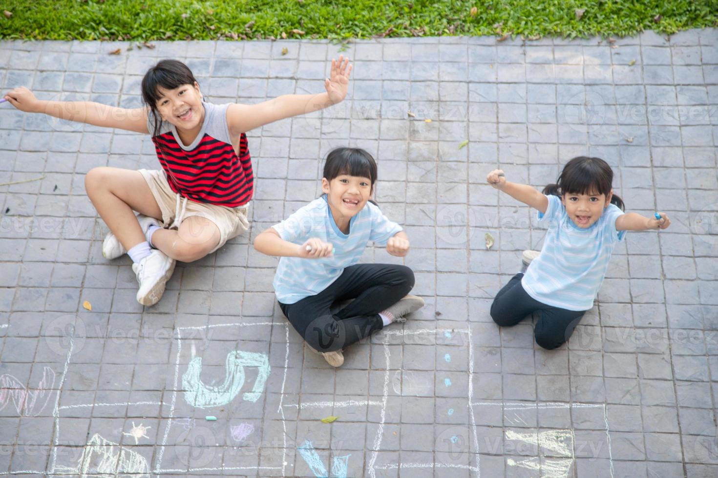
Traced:
<path id="1" fill-rule="evenodd" d="M 182 376 L 182 388 L 185 389 L 185 400 L 197 408 L 210 408 L 223 406 L 238 395 L 244 385 L 244 368 L 258 367 L 259 373 L 251 392 L 243 394 L 247 401 L 255 402 L 264 390 L 264 384 L 269 377 L 269 357 L 266 353 L 242 352 L 234 350 L 227 354 L 227 375 L 225 381 L 219 386 L 205 386 L 200 375 L 202 374 L 202 358 L 195 357 L 187 365 L 187 371 Z"/>

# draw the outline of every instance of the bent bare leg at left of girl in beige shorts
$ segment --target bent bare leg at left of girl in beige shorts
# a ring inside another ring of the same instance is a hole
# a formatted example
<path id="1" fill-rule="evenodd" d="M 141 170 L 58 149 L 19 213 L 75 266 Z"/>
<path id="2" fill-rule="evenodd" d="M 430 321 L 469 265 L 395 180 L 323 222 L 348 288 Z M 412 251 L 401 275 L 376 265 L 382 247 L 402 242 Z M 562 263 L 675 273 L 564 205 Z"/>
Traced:
<path id="1" fill-rule="evenodd" d="M 162 210 L 139 171 L 93 168 L 85 176 L 85 190 L 105 224 L 127 250 L 146 240 L 133 211 L 162 220 Z"/>

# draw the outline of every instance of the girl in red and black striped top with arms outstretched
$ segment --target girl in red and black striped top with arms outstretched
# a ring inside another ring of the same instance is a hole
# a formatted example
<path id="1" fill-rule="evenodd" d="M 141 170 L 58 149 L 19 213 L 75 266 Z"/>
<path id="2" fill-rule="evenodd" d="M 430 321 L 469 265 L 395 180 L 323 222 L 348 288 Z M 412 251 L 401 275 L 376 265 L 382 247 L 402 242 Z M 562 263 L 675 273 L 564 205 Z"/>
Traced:
<path id="1" fill-rule="evenodd" d="M 26 87 L 4 98 L 22 111 L 152 135 L 162 171 L 93 168 L 85 189 L 110 229 L 103 255 L 129 254 L 139 282 L 137 301 L 154 305 L 175 261 L 201 259 L 248 229 L 254 176 L 246 131 L 342 101 L 351 70 L 340 56 L 332 59 L 326 92 L 282 95 L 256 105 L 205 102 L 192 71 L 173 59 L 144 75 L 145 107 L 37 100 Z"/>

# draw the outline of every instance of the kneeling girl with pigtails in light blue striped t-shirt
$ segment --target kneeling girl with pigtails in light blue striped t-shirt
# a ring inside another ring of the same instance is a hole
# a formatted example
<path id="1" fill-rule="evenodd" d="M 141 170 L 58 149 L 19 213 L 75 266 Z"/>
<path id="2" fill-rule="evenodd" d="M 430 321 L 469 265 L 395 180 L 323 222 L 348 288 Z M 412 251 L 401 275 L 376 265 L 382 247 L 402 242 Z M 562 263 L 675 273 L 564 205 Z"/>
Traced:
<path id="1" fill-rule="evenodd" d="M 534 337 L 543 348 L 557 348 L 569 340 L 593 307 L 613 248 L 625 231 L 666 229 L 671 224 L 665 213 L 658 213 L 661 219 L 624 214 L 623 201 L 612 190 L 613 171 L 600 158 L 573 158 L 558 183 L 549 184 L 543 193 L 506 181 L 500 169 L 486 180 L 537 209 L 538 221 L 549 224 L 541 253 L 524 252 L 526 273 L 510 279 L 491 305 L 491 317 L 504 327 L 536 312 Z"/>

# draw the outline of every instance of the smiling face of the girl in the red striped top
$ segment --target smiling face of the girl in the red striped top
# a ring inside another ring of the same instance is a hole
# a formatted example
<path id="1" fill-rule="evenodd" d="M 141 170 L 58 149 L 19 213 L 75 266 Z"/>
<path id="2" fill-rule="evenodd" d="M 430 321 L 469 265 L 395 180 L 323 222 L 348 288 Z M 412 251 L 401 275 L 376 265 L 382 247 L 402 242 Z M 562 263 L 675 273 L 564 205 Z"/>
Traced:
<path id="1" fill-rule="evenodd" d="M 162 119 L 169 121 L 177 128 L 191 130 L 202 125 L 205 108 L 202 107 L 200 85 L 180 85 L 172 90 L 157 87 L 159 99 L 155 103 Z"/>

